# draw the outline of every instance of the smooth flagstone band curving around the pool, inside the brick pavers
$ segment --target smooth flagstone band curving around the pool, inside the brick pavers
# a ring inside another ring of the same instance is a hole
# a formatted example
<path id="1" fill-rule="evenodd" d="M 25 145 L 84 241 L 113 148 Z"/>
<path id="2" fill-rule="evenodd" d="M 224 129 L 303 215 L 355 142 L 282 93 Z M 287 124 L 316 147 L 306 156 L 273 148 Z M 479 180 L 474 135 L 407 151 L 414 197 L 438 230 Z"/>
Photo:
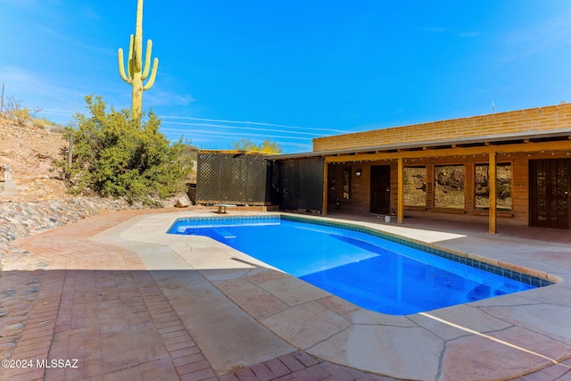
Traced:
<path id="1" fill-rule="evenodd" d="M 272 214 L 281 216 L 285 213 L 240 213 L 249 216 Z M 560 296 L 569 294 L 564 276 L 569 269 L 558 274 L 550 269 L 532 268 L 525 262 L 490 258 L 480 253 L 481 247 L 476 250 L 478 253 L 458 250 L 448 242 L 458 237 L 445 239 L 440 244 L 417 239 L 425 246 L 442 247 L 447 252 L 458 253 L 455 255 L 486 263 L 509 264 L 513 269 L 532 271 L 558 283 L 525 291 L 525 295 L 503 295 L 406 316 L 384 315 L 360 309 L 214 240 L 165 233 L 175 219 L 193 215 L 200 213 L 137 217 L 124 227 L 120 236 L 128 241 L 169 246 L 186 261 L 189 269 L 200 272 L 261 326 L 295 348 L 324 360 L 406 379 L 494 379 L 517 377 L 571 357 L 571 333 L 565 329 L 558 332 L 561 323 L 560 317 L 557 318 L 558 314 L 571 317 L 569 298 L 563 298 L 564 302 L 560 300 Z M 324 217 L 295 218 L 339 223 L 339 219 Z M 395 228 L 399 230 L 399 227 L 390 227 L 392 231 L 386 231 L 385 225 L 371 227 L 372 224 L 356 224 L 355 221 L 343 221 L 343 224 L 377 228 L 393 236 L 396 236 Z M 216 260 L 212 261 L 214 256 Z M 216 269 L 216 266 L 221 268 Z M 530 313 L 534 318 L 525 318 L 522 312 Z M 546 354 L 528 349 L 530 339 L 533 339 L 533 346 L 541 344 Z M 484 353 L 483 344 L 487 348 Z M 492 366 L 480 369 L 476 374 L 472 369 L 470 373 L 471 367 L 467 364 L 476 360 L 485 360 Z M 509 367 L 506 367 L 506 361 Z M 498 366 L 494 367 L 494 363 Z"/>

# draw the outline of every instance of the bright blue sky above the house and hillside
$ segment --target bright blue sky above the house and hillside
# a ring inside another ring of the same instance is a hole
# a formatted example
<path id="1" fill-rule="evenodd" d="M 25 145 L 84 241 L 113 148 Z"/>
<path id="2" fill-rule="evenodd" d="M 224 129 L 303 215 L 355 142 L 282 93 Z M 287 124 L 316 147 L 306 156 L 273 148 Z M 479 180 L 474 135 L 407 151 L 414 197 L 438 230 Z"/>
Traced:
<path id="1" fill-rule="evenodd" d="M 5 95 L 66 124 L 86 95 L 130 107 L 117 49 L 136 0 L 0 0 Z M 571 102 L 568 0 L 145 0 L 160 60 L 144 109 L 229 149 Z"/>

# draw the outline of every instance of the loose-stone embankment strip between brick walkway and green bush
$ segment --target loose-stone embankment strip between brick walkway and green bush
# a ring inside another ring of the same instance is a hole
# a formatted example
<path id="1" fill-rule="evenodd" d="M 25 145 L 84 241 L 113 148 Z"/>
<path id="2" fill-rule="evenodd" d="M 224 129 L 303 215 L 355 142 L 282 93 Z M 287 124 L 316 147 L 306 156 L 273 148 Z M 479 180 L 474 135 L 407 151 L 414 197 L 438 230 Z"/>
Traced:
<path id="1" fill-rule="evenodd" d="M 98 197 L 0 203 L 0 270 L 4 256 L 9 252 L 10 242 L 15 239 L 77 222 L 103 211 L 143 208 L 141 204 L 129 205 L 124 200 Z"/>

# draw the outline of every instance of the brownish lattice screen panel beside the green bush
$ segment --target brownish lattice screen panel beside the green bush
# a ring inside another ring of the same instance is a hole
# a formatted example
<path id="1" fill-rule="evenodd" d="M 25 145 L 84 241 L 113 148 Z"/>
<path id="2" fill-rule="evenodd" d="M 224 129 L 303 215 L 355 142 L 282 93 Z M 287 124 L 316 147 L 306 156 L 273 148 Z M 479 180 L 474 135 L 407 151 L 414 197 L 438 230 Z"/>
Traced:
<path id="1" fill-rule="evenodd" d="M 266 205 L 269 163 L 260 153 L 198 153 L 196 203 Z"/>

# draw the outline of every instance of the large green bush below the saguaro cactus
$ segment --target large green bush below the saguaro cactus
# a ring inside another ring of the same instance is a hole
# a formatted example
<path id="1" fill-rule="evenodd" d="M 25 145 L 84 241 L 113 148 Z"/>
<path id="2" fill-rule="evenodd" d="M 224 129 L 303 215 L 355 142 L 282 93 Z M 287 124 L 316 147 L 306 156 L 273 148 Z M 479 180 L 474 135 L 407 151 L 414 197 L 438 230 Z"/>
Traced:
<path id="1" fill-rule="evenodd" d="M 186 145 L 170 145 L 153 112 L 143 121 L 133 120 L 128 110 L 106 112 L 99 96 L 87 96 L 86 102 L 90 115 L 74 115 L 77 127 L 66 131 L 71 155 L 64 150 L 62 160 L 54 163 L 70 193 L 91 190 L 103 197 L 150 202 L 185 190 L 192 165 Z"/>

